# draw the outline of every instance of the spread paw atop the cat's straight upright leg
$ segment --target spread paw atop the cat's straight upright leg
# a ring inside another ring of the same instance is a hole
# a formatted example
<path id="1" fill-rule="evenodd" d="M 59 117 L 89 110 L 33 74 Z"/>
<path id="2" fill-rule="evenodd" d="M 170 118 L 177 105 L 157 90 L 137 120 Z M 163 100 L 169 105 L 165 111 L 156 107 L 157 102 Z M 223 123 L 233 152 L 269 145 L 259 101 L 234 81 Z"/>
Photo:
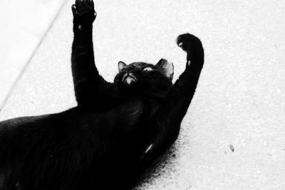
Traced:
<path id="1" fill-rule="evenodd" d="M 96 17 L 93 0 L 76 0 L 71 6 L 73 17 L 76 21 L 93 23 Z"/>

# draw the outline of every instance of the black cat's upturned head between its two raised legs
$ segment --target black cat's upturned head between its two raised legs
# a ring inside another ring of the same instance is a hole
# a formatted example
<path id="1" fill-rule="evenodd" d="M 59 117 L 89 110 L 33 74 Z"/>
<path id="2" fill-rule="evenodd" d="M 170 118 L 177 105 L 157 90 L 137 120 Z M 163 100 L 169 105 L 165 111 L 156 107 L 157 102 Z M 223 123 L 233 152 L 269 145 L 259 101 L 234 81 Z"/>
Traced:
<path id="1" fill-rule="evenodd" d="M 124 90 L 138 90 L 150 92 L 152 90 L 168 90 L 172 85 L 173 64 L 165 59 L 160 59 L 156 65 L 143 62 L 130 63 L 120 61 L 119 73 L 115 76 L 114 83 Z"/>

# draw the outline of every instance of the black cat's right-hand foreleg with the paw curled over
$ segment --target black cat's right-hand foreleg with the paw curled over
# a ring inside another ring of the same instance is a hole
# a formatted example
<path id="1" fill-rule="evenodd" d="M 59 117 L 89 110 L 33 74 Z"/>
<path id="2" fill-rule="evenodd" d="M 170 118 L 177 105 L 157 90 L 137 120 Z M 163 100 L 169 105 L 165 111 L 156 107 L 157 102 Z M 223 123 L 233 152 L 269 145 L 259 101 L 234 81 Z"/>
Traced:
<path id="1" fill-rule="evenodd" d="M 145 165 L 165 152 L 177 139 L 180 123 L 195 93 L 204 64 L 204 49 L 199 38 L 185 33 L 178 36 L 177 45 L 187 52 L 186 68 L 157 111 L 155 122 L 152 123 L 152 128 L 155 129 L 153 142 L 146 147 Z"/>

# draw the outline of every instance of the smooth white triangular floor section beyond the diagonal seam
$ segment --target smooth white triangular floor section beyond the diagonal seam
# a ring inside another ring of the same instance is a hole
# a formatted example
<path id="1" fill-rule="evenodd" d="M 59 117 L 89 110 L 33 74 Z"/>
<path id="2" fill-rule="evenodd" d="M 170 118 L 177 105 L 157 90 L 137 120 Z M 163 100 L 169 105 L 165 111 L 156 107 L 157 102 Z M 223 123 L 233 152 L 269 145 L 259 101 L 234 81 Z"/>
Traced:
<path id="1" fill-rule="evenodd" d="M 66 0 L 1 0 L 0 110 Z"/>

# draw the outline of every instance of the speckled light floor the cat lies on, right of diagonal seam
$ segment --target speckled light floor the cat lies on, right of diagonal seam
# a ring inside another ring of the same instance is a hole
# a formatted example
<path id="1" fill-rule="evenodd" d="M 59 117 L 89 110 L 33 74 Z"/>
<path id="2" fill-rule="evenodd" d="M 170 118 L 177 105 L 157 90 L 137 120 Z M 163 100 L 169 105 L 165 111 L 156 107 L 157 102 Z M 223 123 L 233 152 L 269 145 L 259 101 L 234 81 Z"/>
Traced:
<path id="1" fill-rule="evenodd" d="M 0 112 L 0 120 L 76 106 L 68 1 Z M 175 38 L 190 32 L 205 63 L 180 137 L 138 186 L 285 189 L 284 1 L 95 1 L 95 61 L 112 81 L 119 60 L 185 68 Z M 32 26 L 31 26 L 32 27 Z"/>

